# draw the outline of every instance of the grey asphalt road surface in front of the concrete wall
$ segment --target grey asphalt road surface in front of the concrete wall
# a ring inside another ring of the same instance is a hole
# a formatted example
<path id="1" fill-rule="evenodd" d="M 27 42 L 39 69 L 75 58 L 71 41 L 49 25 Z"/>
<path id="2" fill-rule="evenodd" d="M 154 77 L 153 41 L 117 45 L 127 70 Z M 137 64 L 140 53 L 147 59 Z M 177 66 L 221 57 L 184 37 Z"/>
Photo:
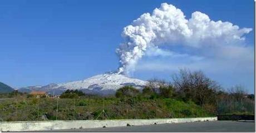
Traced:
<path id="1" fill-rule="evenodd" d="M 96 129 L 70 129 L 51 131 L 99 131 L 99 132 L 254 132 L 254 121 L 205 121 L 180 124 L 146 126 L 105 127 Z"/>

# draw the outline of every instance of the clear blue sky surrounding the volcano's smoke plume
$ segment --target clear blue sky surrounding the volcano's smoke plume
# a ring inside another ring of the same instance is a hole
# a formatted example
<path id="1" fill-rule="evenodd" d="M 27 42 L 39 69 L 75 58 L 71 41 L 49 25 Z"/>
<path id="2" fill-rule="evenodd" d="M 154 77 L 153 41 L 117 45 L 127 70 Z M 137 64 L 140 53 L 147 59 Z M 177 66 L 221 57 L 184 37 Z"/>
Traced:
<path id="1" fill-rule="evenodd" d="M 245 35 L 244 44 L 254 48 L 254 1 L 249 0 L 0 1 L 0 81 L 12 87 L 46 85 L 82 80 L 116 70 L 119 58 L 115 50 L 123 41 L 122 29 L 164 2 L 180 8 L 186 18 L 200 11 L 214 21 L 229 21 L 241 28 L 253 28 Z M 140 66 L 149 62 L 162 66 L 175 66 L 177 62 L 186 65 L 187 62 L 182 61 L 145 56 L 132 76 L 142 80 L 152 77 L 169 80 L 180 66 L 160 68 L 163 71 Z M 192 70 L 203 70 L 225 88 L 242 84 L 253 93 L 253 64 L 244 67 L 236 63 L 238 65 L 234 67 L 212 65 L 213 68 L 195 63 Z"/>

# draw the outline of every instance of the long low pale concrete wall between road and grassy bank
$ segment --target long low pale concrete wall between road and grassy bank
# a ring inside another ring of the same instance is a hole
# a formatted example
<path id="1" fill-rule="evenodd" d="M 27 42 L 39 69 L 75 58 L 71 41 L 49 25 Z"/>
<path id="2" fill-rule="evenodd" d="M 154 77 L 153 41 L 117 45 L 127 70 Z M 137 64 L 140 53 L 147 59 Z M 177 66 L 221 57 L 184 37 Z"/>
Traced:
<path id="1" fill-rule="evenodd" d="M 15 121 L 0 122 L 1 131 L 42 131 L 58 129 L 86 129 L 96 127 L 137 126 L 171 124 L 181 122 L 215 121 L 217 117 L 197 117 L 178 119 L 131 119 L 131 120 L 76 120 L 76 121 Z"/>

